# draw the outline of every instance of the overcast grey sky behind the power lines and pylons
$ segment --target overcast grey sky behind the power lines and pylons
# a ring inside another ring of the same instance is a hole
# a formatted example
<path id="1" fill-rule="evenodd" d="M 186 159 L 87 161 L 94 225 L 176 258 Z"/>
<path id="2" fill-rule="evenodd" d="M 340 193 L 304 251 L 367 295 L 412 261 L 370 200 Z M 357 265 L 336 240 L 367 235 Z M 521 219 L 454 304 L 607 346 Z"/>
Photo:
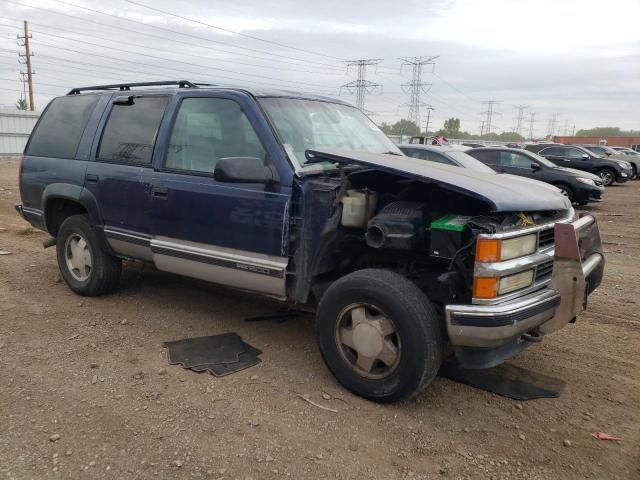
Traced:
<path id="1" fill-rule="evenodd" d="M 392 122 L 408 112 L 398 58 L 437 55 L 422 99 L 438 127 L 456 116 L 478 132 L 495 100 L 492 131 L 513 130 L 516 105 L 530 106 L 523 133 L 535 113 L 537 136 L 554 113 L 560 134 L 640 129 L 639 0 L 0 0 L 0 104 L 22 91 L 22 20 L 38 109 L 71 87 L 182 78 L 355 101 L 339 88 L 357 73 L 344 61 L 376 58 L 366 109 Z"/>

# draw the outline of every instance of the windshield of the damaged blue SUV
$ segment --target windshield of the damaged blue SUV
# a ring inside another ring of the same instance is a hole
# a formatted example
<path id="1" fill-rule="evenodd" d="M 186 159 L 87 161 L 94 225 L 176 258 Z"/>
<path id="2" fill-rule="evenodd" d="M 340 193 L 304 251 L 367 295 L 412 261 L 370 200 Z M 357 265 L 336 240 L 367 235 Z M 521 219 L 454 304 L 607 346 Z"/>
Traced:
<path id="1" fill-rule="evenodd" d="M 403 155 L 360 110 L 349 105 L 296 98 L 261 98 L 280 140 L 301 167 L 306 150 L 353 150 Z M 404 155 L 403 155 L 404 156 Z M 326 163 L 325 165 L 331 165 Z"/>

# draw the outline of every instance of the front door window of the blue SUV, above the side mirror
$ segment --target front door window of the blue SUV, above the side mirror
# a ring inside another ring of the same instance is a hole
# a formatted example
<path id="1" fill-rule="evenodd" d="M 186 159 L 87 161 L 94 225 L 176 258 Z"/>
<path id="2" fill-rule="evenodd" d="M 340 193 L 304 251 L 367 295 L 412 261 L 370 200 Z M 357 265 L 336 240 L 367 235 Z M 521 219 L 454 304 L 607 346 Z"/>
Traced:
<path id="1" fill-rule="evenodd" d="M 226 98 L 185 98 L 176 116 L 165 168 L 213 173 L 227 157 L 266 159 L 240 105 Z"/>

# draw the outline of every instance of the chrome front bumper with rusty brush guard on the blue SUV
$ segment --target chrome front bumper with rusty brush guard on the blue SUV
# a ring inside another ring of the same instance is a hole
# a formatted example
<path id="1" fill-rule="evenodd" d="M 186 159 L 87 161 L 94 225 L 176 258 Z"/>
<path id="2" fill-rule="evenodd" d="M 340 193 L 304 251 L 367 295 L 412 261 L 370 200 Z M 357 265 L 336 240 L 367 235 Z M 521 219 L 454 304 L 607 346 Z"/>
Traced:
<path id="1" fill-rule="evenodd" d="M 585 215 L 573 223 L 557 223 L 550 284 L 502 303 L 447 305 L 449 340 L 456 347 L 494 348 L 539 339 L 576 317 L 600 284 L 603 270 L 596 219 Z"/>

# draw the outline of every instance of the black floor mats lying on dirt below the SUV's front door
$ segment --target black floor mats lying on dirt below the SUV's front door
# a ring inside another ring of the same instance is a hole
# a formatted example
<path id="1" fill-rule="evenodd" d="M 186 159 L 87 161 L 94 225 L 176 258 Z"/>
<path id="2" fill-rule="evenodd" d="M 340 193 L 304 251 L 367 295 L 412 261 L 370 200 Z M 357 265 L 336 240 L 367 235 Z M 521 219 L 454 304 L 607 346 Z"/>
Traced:
<path id="1" fill-rule="evenodd" d="M 262 351 L 242 341 L 235 333 L 186 338 L 165 342 L 171 365 L 180 364 L 195 372 L 209 371 L 218 377 L 260 363 Z"/>

